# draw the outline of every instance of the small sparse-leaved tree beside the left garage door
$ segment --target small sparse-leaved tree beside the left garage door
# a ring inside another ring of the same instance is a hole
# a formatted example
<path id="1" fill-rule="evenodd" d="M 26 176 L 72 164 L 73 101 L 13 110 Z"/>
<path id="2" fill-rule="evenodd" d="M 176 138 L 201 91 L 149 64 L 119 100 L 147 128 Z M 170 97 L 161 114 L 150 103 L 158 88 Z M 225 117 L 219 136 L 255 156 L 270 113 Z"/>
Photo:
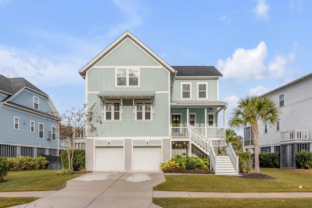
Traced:
<path id="1" fill-rule="evenodd" d="M 85 104 L 83 109 L 72 108 L 71 111 L 67 111 L 61 115 L 61 121 L 59 122 L 59 136 L 63 138 L 67 156 L 68 156 L 68 169 L 73 169 L 73 158 L 75 151 L 75 144 L 77 138 L 80 136 L 81 132 L 88 125 L 89 132 L 95 132 L 97 127 L 94 125 L 96 123 L 102 123 L 100 115 L 98 113 L 93 113 L 93 109 L 96 103 L 89 109 Z M 91 121 L 95 122 L 91 122 Z"/>

